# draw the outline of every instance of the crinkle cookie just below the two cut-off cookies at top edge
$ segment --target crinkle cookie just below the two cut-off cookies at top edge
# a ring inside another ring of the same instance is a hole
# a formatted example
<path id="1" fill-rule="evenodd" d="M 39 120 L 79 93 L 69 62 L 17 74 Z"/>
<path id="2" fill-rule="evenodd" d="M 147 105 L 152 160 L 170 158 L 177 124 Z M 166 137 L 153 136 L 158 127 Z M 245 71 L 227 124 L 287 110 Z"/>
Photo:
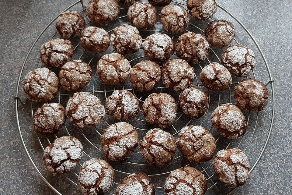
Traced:
<path id="1" fill-rule="evenodd" d="M 136 28 L 149 29 L 156 23 L 157 10 L 150 3 L 136 2 L 128 9 L 128 19 Z"/>

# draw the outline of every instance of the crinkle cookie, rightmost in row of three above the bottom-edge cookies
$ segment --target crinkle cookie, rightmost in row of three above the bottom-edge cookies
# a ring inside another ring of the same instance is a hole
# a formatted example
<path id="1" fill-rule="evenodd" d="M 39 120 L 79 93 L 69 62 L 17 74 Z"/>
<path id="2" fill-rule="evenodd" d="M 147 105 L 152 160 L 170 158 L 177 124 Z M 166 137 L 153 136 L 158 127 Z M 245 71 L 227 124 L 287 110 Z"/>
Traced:
<path id="1" fill-rule="evenodd" d="M 215 138 L 203 126 L 186 126 L 180 132 L 176 145 L 182 155 L 193 163 L 209 161 L 216 149 Z"/>

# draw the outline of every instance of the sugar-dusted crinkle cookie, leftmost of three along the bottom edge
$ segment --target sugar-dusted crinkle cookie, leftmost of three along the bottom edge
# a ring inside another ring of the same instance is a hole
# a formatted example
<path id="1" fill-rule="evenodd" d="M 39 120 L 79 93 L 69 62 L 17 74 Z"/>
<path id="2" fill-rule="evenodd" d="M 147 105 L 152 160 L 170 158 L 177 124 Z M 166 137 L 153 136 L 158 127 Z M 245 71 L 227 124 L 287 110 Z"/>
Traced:
<path id="1" fill-rule="evenodd" d="M 86 161 L 78 176 L 78 183 L 83 195 L 102 195 L 113 188 L 115 172 L 105 160 L 92 158 Z"/>

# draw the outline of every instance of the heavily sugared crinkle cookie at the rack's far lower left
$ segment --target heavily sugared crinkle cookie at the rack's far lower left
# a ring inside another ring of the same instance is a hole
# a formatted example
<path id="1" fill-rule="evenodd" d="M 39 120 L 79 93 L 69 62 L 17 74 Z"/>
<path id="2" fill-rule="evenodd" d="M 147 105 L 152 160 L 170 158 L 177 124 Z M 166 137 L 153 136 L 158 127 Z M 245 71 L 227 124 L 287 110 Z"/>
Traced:
<path id="1" fill-rule="evenodd" d="M 45 148 L 43 166 L 53 176 L 72 171 L 82 158 L 82 152 L 83 146 L 75 137 L 59 137 Z"/>

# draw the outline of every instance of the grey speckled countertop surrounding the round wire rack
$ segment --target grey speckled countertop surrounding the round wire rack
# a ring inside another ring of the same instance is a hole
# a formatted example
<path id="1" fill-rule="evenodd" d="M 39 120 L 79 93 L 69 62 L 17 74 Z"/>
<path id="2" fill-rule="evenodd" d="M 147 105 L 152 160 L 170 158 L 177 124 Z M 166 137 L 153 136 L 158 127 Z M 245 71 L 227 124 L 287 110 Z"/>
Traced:
<path id="1" fill-rule="evenodd" d="M 72 0 L 0 1 L 0 194 L 54 194 L 40 179 L 19 139 L 14 111 L 24 57 L 43 27 Z M 248 184 L 236 194 L 290 194 L 292 126 L 291 0 L 217 0 L 249 29 L 275 80 L 276 113 L 269 144 Z M 66 5 L 64 5 L 66 4 Z"/>

